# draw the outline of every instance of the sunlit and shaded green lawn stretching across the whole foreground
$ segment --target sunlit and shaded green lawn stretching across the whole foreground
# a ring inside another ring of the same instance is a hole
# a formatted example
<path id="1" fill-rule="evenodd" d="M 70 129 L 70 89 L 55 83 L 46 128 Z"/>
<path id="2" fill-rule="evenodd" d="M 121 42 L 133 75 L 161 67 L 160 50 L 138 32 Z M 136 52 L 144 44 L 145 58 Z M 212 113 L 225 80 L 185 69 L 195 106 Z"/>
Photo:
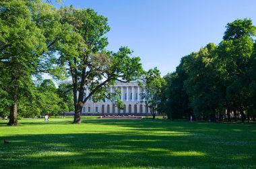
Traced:
<path id="1" fill-rule="evenodd" d="M 0 168 L 256 168 L 255 123 L 19 122 L 18 127 L 0 122 Z"/>

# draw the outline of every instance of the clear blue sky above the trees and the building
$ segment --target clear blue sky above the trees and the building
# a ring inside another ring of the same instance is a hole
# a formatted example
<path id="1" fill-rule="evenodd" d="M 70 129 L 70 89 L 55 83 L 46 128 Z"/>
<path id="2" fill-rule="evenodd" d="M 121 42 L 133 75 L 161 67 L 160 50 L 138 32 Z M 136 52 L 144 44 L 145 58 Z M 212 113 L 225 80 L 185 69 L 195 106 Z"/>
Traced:
<path id="1" fill-rule="evenodd" d="M 183 56 L 212 42 L 219 44 L 226 24 L 250 18 L 256 25 L 255 0 L 64 0 L 56 7 L 91 8 L 108 18 L 107 50 L 121 46 L 141 58 L 145 70 L 174 72 Z"/>

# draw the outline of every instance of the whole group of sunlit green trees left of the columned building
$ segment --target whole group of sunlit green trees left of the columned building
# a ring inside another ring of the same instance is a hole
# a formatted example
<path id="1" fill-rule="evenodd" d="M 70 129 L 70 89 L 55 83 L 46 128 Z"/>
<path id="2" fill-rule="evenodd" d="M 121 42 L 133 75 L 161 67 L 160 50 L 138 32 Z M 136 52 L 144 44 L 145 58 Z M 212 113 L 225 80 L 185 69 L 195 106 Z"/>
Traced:
<path id="1" fill-rule="evenodd" d="M 104 50 L 108 45 L 104 34 L 110 27 L 107 18 L 93 9 L 71 6 L 57 10 L 49 4 L 51 1 L 44 2 L 0 3 L 0 112 L 11 107 L 9 125 L 18 124 L 17 105 L 20 115 L 26 117 L 56 114 L 68 107 L 70 111 L 73 105 L 74 122 L 79 121 L 82 105 L 92 96 L 94 101 L 108 97 L 123 107 L 118 97 L 120 91 L 110 94 L 106 88 L 115 80 L 129 81 L 141 76 L 139 57 L 131 57 L 132 51 L 127 47 L 116 53 Z M 61 80 L 71 76 L 73 97 L 63 89 L 57 93 L 51 81 L 37 82 L 40 87 L 34 89 L 32 77 L 42 79 L 43 72 Z M 86 98 L 85 86 L 90 86 Z"/>

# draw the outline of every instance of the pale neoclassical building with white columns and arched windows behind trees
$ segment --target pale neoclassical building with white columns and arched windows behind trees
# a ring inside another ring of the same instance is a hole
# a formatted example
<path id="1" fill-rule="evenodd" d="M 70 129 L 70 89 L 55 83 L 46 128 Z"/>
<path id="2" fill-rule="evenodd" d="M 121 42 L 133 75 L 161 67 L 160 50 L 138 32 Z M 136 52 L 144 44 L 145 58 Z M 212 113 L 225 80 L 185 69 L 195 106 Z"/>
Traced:
<path id="1" fill-rule="evenodd" d="M 139 95 L 141 88 L 136 81 L 131 82 L 119 82 L 115 83 L 114 87 L 110 87 L 110 93 L 115 90 L 121 91 L 121 100 L 124 102 L 124 109 L 118 109 L 113 103 L 106 99 L 94 103 L 92 100 L 88 100 L 82 109 L 82 113 L 90 115 L 145 115 L 150 113 L 150 109 L 146 107 L 143 99 Z M 88 89 L 85 91 L 88 95 Z"/>

